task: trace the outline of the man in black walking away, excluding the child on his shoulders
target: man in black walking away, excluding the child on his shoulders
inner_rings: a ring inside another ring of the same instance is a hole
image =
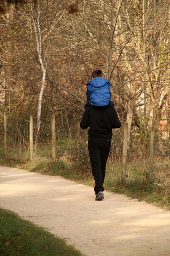
[[[90,155],[92,174],[95,180],[94,191],[96,201],[104,199],[103,183],[105,180],[106,162],[111,149],[112,128],[120,128],[121,122],[113,102],[107,106],[98,107],[87,102],[80,122],[80,127],[88,131],[88,151]]]

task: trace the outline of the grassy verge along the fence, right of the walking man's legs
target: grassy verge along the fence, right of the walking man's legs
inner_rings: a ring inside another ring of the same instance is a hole
[[[127,163],[127,178],[122,183],[120,163],[108,163],[105,189],[170,210],[170,169],[163,169],[160,161],[155,162],[155,175],[150,184],[147,183],[147,164],[145,161]]]

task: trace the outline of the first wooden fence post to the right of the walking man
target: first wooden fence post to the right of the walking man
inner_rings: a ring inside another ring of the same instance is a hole
[[[127,131],[128,123],[124,123],[123,130],[123,152],[122,152],[122,182],[126,180],[126,161],[127,161]]]

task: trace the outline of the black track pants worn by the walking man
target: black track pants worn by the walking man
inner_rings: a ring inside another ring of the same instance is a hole
[[[88,139],[88,152],[90,155],[92,174],[95,180],[94,191],[104,191],[106,162],[111,149],[111,138],[90,137]]]

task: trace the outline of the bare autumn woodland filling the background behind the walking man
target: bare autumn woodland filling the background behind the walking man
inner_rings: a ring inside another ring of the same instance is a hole
[[[76,174],[87,175],[87,132],[80,131],[77,124],[86,102],[85,83],[91,80],[94,68],[101,68],[112,84],[112,101],[122,122],[122,128],[113,131],[108,186],[116,190],[115,182],[120,184],[123,126],[128,122],[126,188],[135,187],[136,196],[152,191],[157,195],[155,201],[159,196],[168,205],[170,1],[0,3],[1,158],[6,112],[6,157],[28,163],[32,114],[34,158],[40,164],[41,155],[49,169],[51,114],[55,113],[57,159],[69,166],[75,164]],[[152,189],[147,184],[151,128],[155,160]],[[42,163],[41,171],[45,169]]]

